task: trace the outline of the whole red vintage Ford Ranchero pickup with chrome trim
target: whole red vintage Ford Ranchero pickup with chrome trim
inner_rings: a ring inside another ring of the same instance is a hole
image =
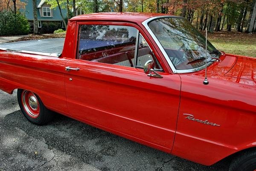
[[[256,171],[255,58],[220,52],[167,14],[80,15],[61,54],[63,40],[51,41],[0,45],[0,89],[17,89],[30,122],[55,111],[203,165],[232,157],[230,171]]]

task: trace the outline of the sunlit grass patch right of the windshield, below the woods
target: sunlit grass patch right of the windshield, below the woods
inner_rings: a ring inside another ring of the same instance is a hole
[[[256,34],[223,31],[210,33],[208,40],[226,53],[256,57]]]

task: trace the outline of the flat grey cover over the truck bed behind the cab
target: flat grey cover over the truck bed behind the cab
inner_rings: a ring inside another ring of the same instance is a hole
[[[0,43],[0,49],[59,57],[64,46],[64,40],[64,38],[49,38],[32,41],[19,41],[13,43]]]

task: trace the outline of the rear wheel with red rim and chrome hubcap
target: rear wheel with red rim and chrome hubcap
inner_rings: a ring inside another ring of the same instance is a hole
[[[36,125],[44,125],[52,119],[52,113],[35,93],[19,89],[17,98],[20,110],[29,122]]]

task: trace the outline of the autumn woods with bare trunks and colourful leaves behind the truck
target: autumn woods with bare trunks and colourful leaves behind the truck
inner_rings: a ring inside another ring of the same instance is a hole
[[[81,9],[84,14],[156,12],[186,17],[201,31],[207,28],[209,32],[223,29],[256,32],[256,0],[47,0],[47,3],[52,8],[66,9],[67,16],[62,16],[66,22],[76,15],[76,9]],[[0,12],[11,10],[16,14],[16,9],[25,5],[20,0],[0,0]]]

